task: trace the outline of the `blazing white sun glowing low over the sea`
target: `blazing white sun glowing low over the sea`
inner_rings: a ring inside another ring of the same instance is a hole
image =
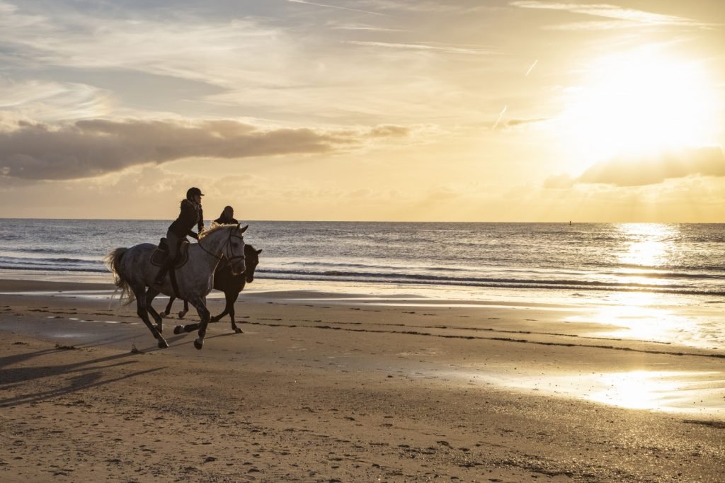
[[[571,91],[567,137],[588,157],[663,152],[711,141],[716,95],[703,66],[653,49],[603,57]]]

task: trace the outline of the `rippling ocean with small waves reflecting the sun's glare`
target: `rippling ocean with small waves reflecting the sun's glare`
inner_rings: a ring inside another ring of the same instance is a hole
[[[0,273],[108,273],[170,220],[0,219]],[[250,221],[257,278],[725,295],[725,224]],[[109,274],[109,281],[111,280]]]

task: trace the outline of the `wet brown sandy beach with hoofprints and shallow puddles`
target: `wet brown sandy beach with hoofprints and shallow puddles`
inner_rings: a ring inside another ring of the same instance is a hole
[[[173,318],[158,350],[107,284],[0,281],[0,480],[725,474],[721,351],[613,337],[581,304],[254,284],[244,334],[211,324],[197,351]]]

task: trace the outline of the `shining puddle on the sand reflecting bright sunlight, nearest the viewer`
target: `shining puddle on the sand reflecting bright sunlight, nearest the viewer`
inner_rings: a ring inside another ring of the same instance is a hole
[[[468,373],[465,376],[481,384],[620,408],[725,418],[725,373],[719,371],[627,371],[558,376]]]

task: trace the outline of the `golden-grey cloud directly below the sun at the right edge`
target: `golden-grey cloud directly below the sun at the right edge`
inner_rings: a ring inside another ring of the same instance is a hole
[[[719,146],[706,146],[661,152],[646,157],[616,157],[597,162],[576,181],[643,186],[691,175],[725,176],[723,150]]]

